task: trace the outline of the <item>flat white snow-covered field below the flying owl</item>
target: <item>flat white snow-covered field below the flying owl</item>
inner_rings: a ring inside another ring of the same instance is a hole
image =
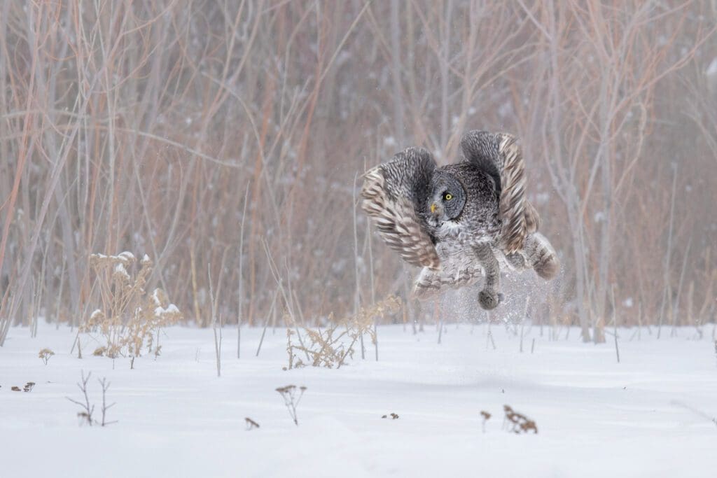
[[[379,327],[369,348],[340,369],[287,364],[285,333],[224,330],[217,378],[212,330],[170,328],[160,358],[70,355],[67,328],[13,329],[0,348],[0,476],[52,477],[714,477],[717,360],[693,330],[655,340],[622,330],[616,363],[602,345],[520,339],[493,325],[449,325],[412,335]],[[669,331],[668,331],[669,332]],[[564,333],[564,331],[563,331]],[[669,335],[669,334],[668,334]],[[535,349],[531,353],[531,343]],[[488,345],[488,346],[487,346]],[[48,365],[41,348],[55,354]],[[118,423],[78,426],[80,371],[111,381]],[[37,383],[29,393],[11,391]],[[291,421],[275,388],[308,387]],[[533,419],[538,434],[501,428],[503,405]],[[690,408],[692,408],[690,410]],[[481,430],[480,411],[493,414]],[[698,412],[702,412],[702,415]],[[395,413],[399,419],[381,419]],[[244,417],[260,429],[246,431]]]

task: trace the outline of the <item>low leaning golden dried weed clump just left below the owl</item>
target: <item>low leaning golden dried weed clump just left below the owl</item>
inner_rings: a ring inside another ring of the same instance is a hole
[[[346,358],[353,358],[354,346],[364,335],[369,335],[371,343],[376,343],[375,319],[382,319],[386,315],[398,312],[401,309],[401,300],[390,295],[386,299],[376,302],[369,307],[362,307],[356,315],[348,316],[342,320],[335,320],[329,316],[329,326],[326,328],[304,328],[303,343],[295,344],[292,341],[295,330],[291,317],[287,315],[285,321],[290,327],[286,330],[287,353],[289,365],[285,370],[300,368],[305,365],[313,367],[341,368]],[[308,363],[297,356],[297,352],[308,358]]]

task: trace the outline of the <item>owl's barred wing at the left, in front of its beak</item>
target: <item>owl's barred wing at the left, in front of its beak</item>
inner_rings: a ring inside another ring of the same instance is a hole
[[[374,219],[386,244],[415,266],[440,267],[420,213],[436,163],[427,150],[408,148],[364,174],[361,209]]]

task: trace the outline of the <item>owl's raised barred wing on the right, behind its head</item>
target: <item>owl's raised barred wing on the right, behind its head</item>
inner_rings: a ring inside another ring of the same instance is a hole
[[[460,140],[463,156],[495,181],[500,201],[501,248],[512,254],[523,248],[530,232],[538,229],[540,217],[526,199],[526,175],[523,150],[518,140],[507,133],[470,131]]]

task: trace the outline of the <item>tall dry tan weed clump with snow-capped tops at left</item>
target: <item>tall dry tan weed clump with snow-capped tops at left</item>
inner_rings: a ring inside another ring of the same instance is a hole
[[[155,345],[154,336],[160,328],[182,317],[163,290],[155,289],[151,293],[145,290],[152,272],[151,259],[145,254],[138,271],[130,274],[135,262],[131,252],[90,256],[101,303],[80,329],[85,333],[99,333],[105,339],[105,345],[95,350],[95,355],[128,356],[132,358],[132,365],[143,348],[159,355],[160,346]]]

